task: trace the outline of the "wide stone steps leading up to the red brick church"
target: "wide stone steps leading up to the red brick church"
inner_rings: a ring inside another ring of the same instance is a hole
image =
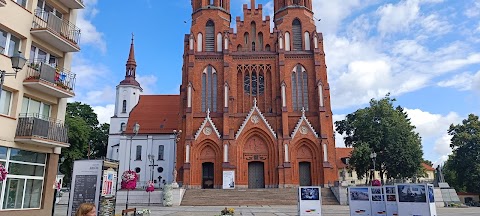
[[[322,188],[323,205],[338,205],[330,188]],[[296,205],[296,188],[272,189],[187,189],[182,206]]]

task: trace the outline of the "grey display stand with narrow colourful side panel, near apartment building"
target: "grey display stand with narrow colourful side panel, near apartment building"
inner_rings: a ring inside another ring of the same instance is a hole
[[[82,203],[93,203],[102,216],[115,215],[118,163],[78,160],[73,164],[67,216],[74,216]]]

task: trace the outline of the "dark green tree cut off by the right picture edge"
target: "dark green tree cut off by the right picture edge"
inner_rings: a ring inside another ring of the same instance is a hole
[[[480,122],[478,116],[468,115],[461,124],[450,125],[448,134],[452,136],[450,147],[453,155],[446,168],[454,175],[454,185],[459,190],[480,193]]]

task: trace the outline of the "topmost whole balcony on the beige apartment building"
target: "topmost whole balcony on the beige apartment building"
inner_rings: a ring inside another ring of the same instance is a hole
[[[30,33],[62,52],[80,51],[80,29],[53,13],[35,10]]]

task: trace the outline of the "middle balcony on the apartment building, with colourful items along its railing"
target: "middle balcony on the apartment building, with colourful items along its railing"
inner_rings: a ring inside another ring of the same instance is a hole
[[[57,98],[75,96],[75,74],[45,63],[43,59],[28,63],[23,85]]]

